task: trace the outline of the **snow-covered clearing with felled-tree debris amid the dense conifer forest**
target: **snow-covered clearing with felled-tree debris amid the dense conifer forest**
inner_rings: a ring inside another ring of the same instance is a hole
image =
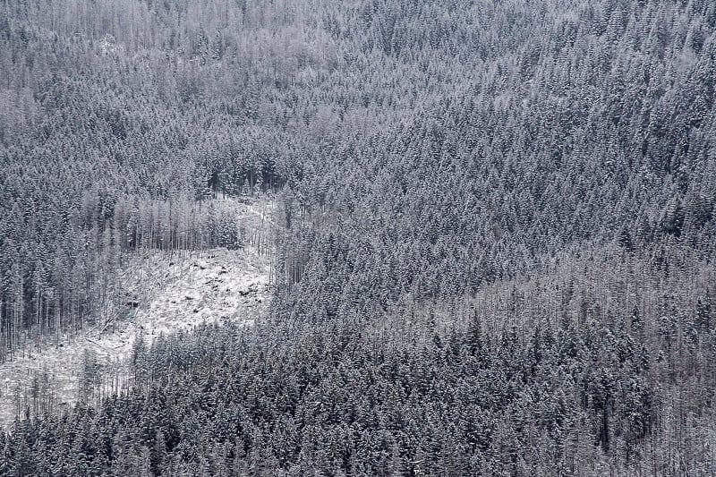
[[[116,370],[131,357],[139,336],[149,345],[160,334],[201,323],[251,325],[265,316],[273,276],[275,204],[218,202],[235,207],[246,219],[252,236],[243,250],[150,251],[125,257],[118,275],[120,296],[114,301],[124,318],[107,313],[110,318],[99,317],[79,333],[55,336],[0,364],[0,426],[7,429],[25,408],[64,412],[74,405],[88,353],[107,370]]]

